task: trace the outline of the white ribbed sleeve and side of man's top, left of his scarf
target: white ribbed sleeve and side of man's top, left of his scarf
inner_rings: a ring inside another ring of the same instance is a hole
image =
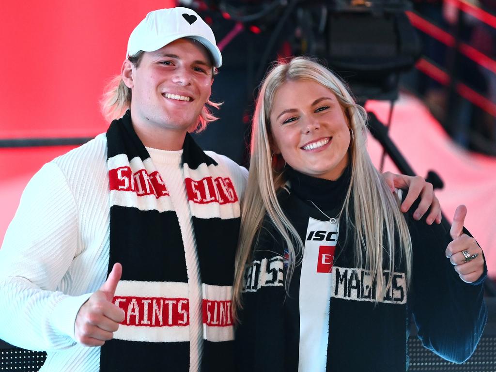
[[[99,135],[32,178],[0,249],[0,338],[45,350],[41,371],[98,371],[74,320],[109,262],[107,140]]]

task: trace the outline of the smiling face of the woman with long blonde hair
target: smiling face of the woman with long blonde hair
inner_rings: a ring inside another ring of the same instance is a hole
[[[287,81],[270,112],[272,144],[293,169],[337,180],[348,165],[351,134],[335,94],[312,80]]]

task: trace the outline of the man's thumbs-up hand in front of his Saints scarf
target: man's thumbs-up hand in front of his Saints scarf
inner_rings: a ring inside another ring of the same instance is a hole
[[[124,311],[112,302],[122,272],[122,265],[114,264],[107,280],[79,309],[74,324],[77,342],[85,346],[102,346],[114,337],[119,323],[124,320]]]

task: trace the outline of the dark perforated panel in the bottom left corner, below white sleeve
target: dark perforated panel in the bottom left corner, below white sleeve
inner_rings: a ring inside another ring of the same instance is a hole
[[[43,366],[45,359],[47,354],[42,351],[0,350],[0,372],[36,372]]]

